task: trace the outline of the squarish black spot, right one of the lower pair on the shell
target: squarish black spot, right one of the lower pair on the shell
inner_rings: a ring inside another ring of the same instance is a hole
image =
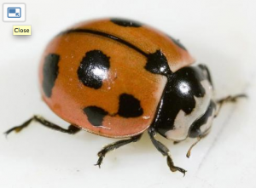
[[[143,108],[140,101],[131,94],[121,94],[118,114],[120,117],[140,117],[143,115]]]

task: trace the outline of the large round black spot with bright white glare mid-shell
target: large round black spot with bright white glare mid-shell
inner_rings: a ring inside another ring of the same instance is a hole
[[[101,50],[87,52],[81,60],[78,75],[84,86],[101,88],[102,81],[108,77],[109,57]]]

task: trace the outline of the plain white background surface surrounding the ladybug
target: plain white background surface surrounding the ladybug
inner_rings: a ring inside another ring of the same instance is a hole
[[[26,3],[24,24],[32,25],[32,36],[12,36],[17,24],[0,22],[0,133],[35,113],[67,126],[40,100],[40,55],[67,26],[106,16],[139,20],[179,38],[210,67],[217,97],[247,93],[249,99],[224,106],[212,133],[196,145],[190,159],[185,153],[194,140],[172,145],[159,138],[177,166],[188,170],[184,178],[169,171],[147,134],[111,152],[99,169],[93,166],[96,152],[113,139],[85,132],[61,134],[33,123],[8,140],[0,135],[0,187],[256,187],[254,0],[20,3]]]

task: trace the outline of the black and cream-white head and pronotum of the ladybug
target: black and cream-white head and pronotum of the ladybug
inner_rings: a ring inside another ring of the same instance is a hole
[[[194,138],[210,128],[214,109],[207,67],[183,67],[168,77],[154,128],[170,140]]]

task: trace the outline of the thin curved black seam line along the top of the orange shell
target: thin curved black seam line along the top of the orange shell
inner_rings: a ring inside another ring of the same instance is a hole
[[[148,57],[147,53],[143,52],[143,50],[141,50],[140,48],[137,48],[137,46],[133,45],[132,43],[129,43],[122,38],[115,37],[113,35],[110,35],[108,33],[102,32],[102,31],[94,31],[94,30],[89,30],[89,29],[71,29],[71,30],[61,32],[59,34],[59,36],[67,35],[70,33],[90,33],[90,34],[94,34],[94,35],[101,36],[101,37],[107,37],[109,39],[112,39],[114,41],[122,43],[122,44],[128,46],[129,48],[136,50],[138,53],[143,54],[143,56],[145,56],[145,57]]]

